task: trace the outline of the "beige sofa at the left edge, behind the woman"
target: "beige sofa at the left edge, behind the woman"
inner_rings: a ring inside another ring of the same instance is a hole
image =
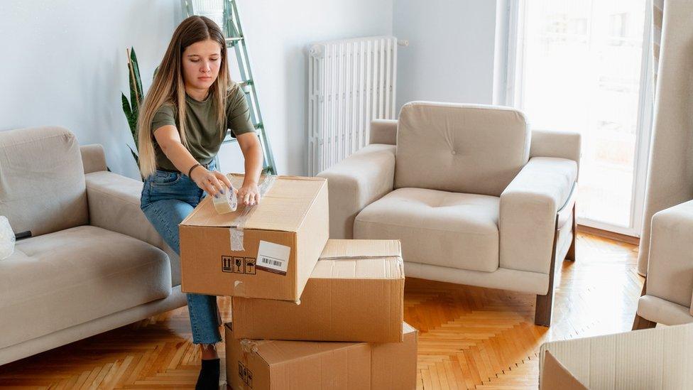
[[[186,304],[178,256],[141,212],[142,183],[58,127],[0,132],[0,364]]]

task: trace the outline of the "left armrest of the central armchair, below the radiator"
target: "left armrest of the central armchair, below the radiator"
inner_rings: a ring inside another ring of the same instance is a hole
[[[395,146],[366,146],[318,176],[327,178],[329,237],[352,238],[356,215],[393,190]]]

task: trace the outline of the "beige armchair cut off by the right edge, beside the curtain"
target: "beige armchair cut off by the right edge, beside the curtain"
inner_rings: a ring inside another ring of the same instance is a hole
[[[633,329],[693,323],[693,200],[655,213]]]

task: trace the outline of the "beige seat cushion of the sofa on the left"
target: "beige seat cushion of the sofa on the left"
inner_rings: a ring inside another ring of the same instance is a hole
[[[0,261],[0,348],[170,291],[168,256],[124,234],[80,226],[18,241]]]

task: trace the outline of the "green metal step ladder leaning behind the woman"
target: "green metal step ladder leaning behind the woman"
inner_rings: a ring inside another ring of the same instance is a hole
[[[241,80],[238,84],[246,94],[248,106],[251,114],[251,121],[257,130],[258,139],[262,146],[264,161],[263,175],[276,175],[277,168],[272,155],[272,148],[267,137],[267,131],[262,121],[260,114],[260,105],[258,104],[258,94],[253,81],[253,73],[251,72],[250,61],[248,59],[248,49],[246,48],[246,40],[244,39],[243,29],[241,28],[241,20],[239,18],[236,0],[182,0],[183,11],[187,16],[199,15],[207,16],[222,28],[224,37],[227,41],[227,50],[233,49],[236,54],[236,62],[239,66]],[[229,134],[224,138],[222,143],[235,143],[236,139]]]

